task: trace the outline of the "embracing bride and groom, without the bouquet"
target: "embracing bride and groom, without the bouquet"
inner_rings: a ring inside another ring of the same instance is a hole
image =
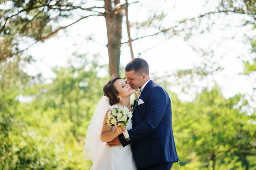
[[[103,88],[88,126],[84,156],[91,170],[170,170],[179,161],[172,130],[172,104],[166,90],[149,78],[148,63],[132,59],[125,67],[126,81],[111,79]],[[130,97],[136,91],[135,108]],[[126,127],[106,124],[115,106],[132,111]],[[128,130],[131,140],[123,133]]]

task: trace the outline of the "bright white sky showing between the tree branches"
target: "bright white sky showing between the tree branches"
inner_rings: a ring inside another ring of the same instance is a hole
[[[132,1],[129,1],[131,3]],[[131,23],[136,21],[143,21],[148,18],[148,15],[153,15],[153,11],[149,12],[148,9],[155,9],[160,7],[161,11],[170,11],[168,16],[163,21],[163,27],[168,28],[174,26],[175,21],[182,20],[184,18],[196,17],[199,14],[204,14],[207,11],[213,11],[215,3],[210,3],[208,6],[204,6],[202,0],[166,0],[163,1],[149,1],[140,0],[142,6],[139,3],[132,4],[129,7],[129,20]],[[214,2],[214,0],[209,1]],[[103,4],[99,2],[99,5]],[[88,3],[87,3],[88,4]],[[92,6],[93,2],[91,3]],[[224,17],[221,15],[221,19],[216,18],[215,25],[210,33],[197,34],[192,36],[189,41],[185,41],[183,37],[171,37],[169,39],[168,34],[156,37],[150,37],[143,40],[137,40],[132,42],[134,55],[138,56],[141,53],[141,57],[145,59],[150,67],[151,72],[157,72],[157,75],[163,75],[165,72],[192,68],[193,65],[199,65],[202,61],[202,57],[198,53],[192,50],[191,46],[195,46],[197,49],[203,48],[209,51],[214,51],[215,61],[220,63],[224,67],[224,71],[221,74],[214,74],[214,79],[219,85],[223,87],[223,94],[225,97],[233,96],[237,93],[253,93],[253,79],[249,77],[239,75],[239,72],[243,71],[243,65],[241,59],[252,59],[250,54],[250,44],[244,44],[244,34],[248,33],[251,28],[235,28],[240,23],[241,17]],[[76,15],[74,16],[76,17]],[[125,26],[125,17],[123,19],[123,36],[122,42],[128,40]],[[61,24],[65,25],[71,23],[70,20],[62,21]],[[206,26],[207,19],[202,21],[202,27]],[[225,26],[225,24],[231,24],[231,27]],[[201,28],[202,28],[201,27]],[[225,28],[222,30],[221,28]],[[249,31],[248,31],[249,30]],[[138,33],[136,29],[131,29],[132,38],[154,34],[156,29],[141,29]],[[255,32],[254,32],[255,33]],[[236,35],[231,38],[232,36]],[[95,42],[87,41],[86,38],[92,37]],[[166,40],[169,39],[169,40]],[[249,42],[249,41],[247,41]],[[46,78],[54,77],[51,72],[51,67],[66,66],[69,58],[72,58],[72,53],[77,52],[79,54],[87,53],[88,58],[91,58],[93,54],[99,53],[101,60],[99,64],[108,63],[108,49],[105,46],[107,44],[106,35],[106,23],[104,17],[90,17],[79,23],[67,28],[64,31],[59,31],[58,36],[46,40],[44,43],[38,43],[29,48],[28,53],[37,59],[35,65],[31,65],[27,68],[29,74],[36,74],[42,72]],[[154,47],[155,48],[152,48]],[[152,49],[151,49],[152,48]],[[148,50],[148,51],[147,51]],[[222,57],[222,59],[221,59]],[[237,58],[241,57],[241,59]],[[131,59],[130,49],[127,44],[122,45],[121,48],[121,65],[126,65]],[[100,73],[99,75],[105,75],[108,73]],[[210,81],[209,81],[210,82]],[[207,81],[197,82],[199,85],[206,86]],[[180,93],[180,88],[172,88],[176,93]],[[187,99],[188,96],[180,93],[181,99]]]

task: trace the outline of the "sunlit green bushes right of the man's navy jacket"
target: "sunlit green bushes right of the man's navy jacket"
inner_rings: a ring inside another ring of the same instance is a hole
[[[243,102],[241,102],[243,101]],[[191,103],[172,100],[177,169],[250,169],[256,166],[255,115],[242,95],[225,99],[218,86],[205,88]],[[184,166],[184,167],[183,167]]]

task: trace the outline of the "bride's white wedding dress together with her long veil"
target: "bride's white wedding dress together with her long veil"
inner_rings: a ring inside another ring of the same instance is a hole
[[[89,124],[83,155],[93,162],[90,170],[137,170],[131,151],[131,144],[126,147],[123,147],[121,144],[119,146],[109,147],[105,142],[100,141],[101,128],[99,129],[99,126],[102,127],[106,111],[112,108],[113,106],[109,105],[108,97],[103,96]],[[105,110],[104,115],[99,115],[98,111],[102,110]],[[100,122],[102,123],[99,124]],[[127,126],[127,130],[132,128],[131,119],[129,122],[130,124]],[[111,131],[115,129],[116,127],[113,126]]]

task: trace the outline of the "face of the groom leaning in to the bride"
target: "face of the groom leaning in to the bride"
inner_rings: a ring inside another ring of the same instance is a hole
[[[125,71],[126,83],[131,85],[132,89],[140,88],[143,85],[143,77],[132,71]]]

